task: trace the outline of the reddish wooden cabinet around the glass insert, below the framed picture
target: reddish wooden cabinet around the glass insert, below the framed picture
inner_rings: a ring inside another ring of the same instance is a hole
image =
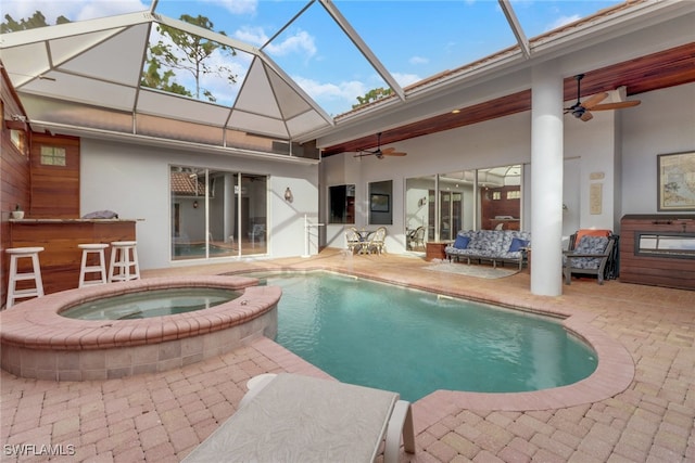
[[[620,281],[695,290],[695,258],[637,254],[642,233],[695,234],[695,216],[632,215],[620,221]]]

